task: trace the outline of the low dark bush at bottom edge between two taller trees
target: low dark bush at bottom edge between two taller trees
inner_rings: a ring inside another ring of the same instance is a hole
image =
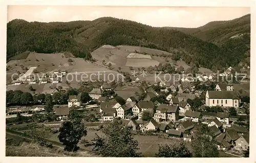
[[[192,157],[185,143],[165,144],[158,147],[156,157]]]

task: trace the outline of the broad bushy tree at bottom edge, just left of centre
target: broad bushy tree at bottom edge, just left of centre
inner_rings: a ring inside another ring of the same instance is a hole
[[[138,141],[134,140],[132,130],[123,127],[122,123],[114,120],[113,123],[102,129],[103,136],[96,134],[93,139],[93,151],[103,157],[139,157],[137,152]]]

